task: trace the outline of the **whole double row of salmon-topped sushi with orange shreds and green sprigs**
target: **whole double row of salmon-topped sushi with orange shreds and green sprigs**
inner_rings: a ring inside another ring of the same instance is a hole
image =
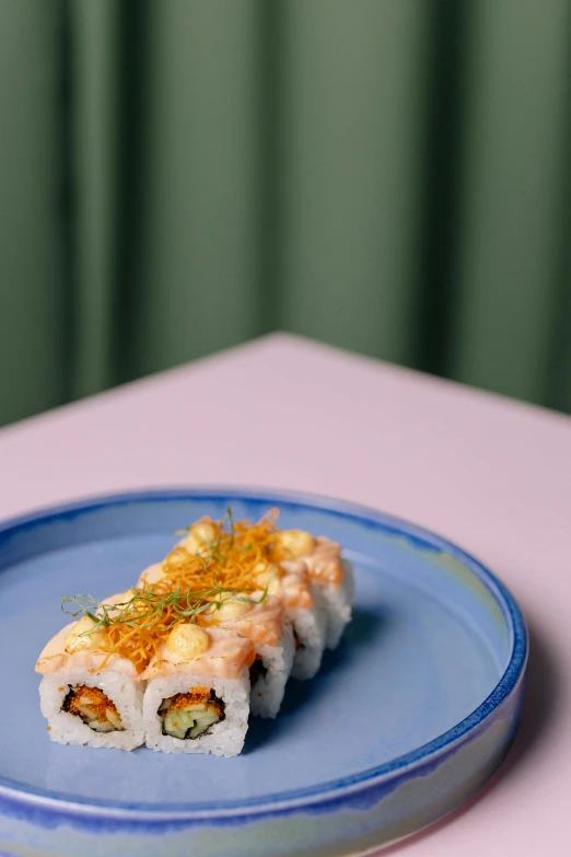
[[[313,678],[351,618],[340,545],[277,519],[205,517],[135,589],[63,599],[79,619],[36,664],[50,738],[237,755],[249,715],[276,717],[290,675]]]

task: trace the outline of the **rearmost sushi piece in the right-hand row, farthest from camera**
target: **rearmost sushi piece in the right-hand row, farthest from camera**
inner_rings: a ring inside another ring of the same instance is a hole
[[[351,564],[341,557],[337,542],[326,536],[314,537],[302,530],[281,531],[278,544],[305,564],[315,602],[327,616],[326,646],[336,649],[351,621],[354,591]]]

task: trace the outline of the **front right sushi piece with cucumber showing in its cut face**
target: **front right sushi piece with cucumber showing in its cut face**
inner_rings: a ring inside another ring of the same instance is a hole
[[[238,755],[248,728],[254,658],[252,641],[232,630],[176,625],[145,671],[147,746]]]

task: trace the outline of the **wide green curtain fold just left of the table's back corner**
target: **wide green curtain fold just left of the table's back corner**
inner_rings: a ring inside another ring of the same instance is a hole
[[[132,374],[259,333],[260,9],[148,4]]]

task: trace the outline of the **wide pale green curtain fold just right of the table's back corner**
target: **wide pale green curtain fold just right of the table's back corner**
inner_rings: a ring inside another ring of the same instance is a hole
[[[411,362],[429,3],[292,0],[282,20],[280,319]]]

